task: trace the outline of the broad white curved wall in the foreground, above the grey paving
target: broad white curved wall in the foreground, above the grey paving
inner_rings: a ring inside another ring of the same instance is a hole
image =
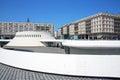
[[[101,77],[120,77],[120,55],[32,53],[0,48],[0,62],[34,71]]]

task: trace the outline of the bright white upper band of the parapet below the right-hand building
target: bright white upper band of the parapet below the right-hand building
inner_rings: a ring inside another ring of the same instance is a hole
[[[120,48],[120,40],[65,40],[63,46],[70,47],[114,47]]]

